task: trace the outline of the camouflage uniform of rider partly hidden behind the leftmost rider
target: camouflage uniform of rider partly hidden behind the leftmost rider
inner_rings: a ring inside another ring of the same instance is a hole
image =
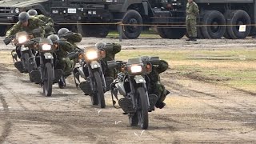
[[[51,34],[55,34],[56,31],[54,30],[54,20],[52,18],[46,17],[45,15],[36,15],[36,16],[32,16],[35,18],[38,18],[40,20],[42,20],[43,22],[45,22],[46,24],[46,37],[51,35]]]

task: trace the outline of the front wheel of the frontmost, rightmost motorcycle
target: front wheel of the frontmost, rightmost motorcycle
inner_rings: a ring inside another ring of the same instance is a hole
[[[149,126],[149,106],[148,106],[148,99],[146,99],[146,91],[144,88],[139,87],[137,89],[138,94],[138,106],[141,109],[138,110],[138,124],[141,126],[142,129],[147,129]]]

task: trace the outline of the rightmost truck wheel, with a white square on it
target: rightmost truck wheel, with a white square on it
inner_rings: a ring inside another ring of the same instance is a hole
[[[230,35],[230,38],[237,39],[237,38],[246,38],[248,34],[250,34],[251,24],[250,16],[244,10],[234,10],[229,17],[227,18],[227,33]],[[238,26],[231,26],[231,25],[238,25]],[[239,32],[239,26],[246,25],[245,32]]]

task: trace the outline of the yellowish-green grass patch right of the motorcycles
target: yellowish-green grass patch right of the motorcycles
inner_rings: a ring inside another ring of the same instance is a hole
[[[118,60],[159,56],[176,74],[256,93],[256,50],[122,50]]]

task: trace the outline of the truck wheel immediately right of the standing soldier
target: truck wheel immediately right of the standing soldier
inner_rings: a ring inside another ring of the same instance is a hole
[[[208,25],[201,28],[204,38],[222,38],[226,31],[225,17],[217,10],[207,11],[202,18],[202,25]]]

